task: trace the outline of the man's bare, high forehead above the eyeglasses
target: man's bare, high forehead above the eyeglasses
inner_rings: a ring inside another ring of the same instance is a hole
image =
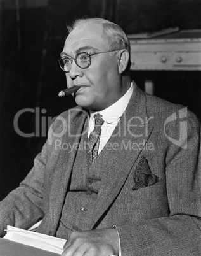
[[[107,41],[103,39],[103,25],[97,23],[82,24],[70,32],[68,35],[63,52],[76,53],[78,49],[84,50],[108,50]]]

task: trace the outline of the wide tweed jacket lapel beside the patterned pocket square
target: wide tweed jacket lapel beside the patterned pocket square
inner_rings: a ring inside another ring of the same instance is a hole
[[[116,135],[108,141],[111,145],[118,145],[119,150],[109,150],[107,153],[107,165],[103,167],[102,184],[93,213],[94,227],[118,196],[152,130],[153,125],[148,122],[146,112],[146,96],[134,85],[131,100],[113,132]]]

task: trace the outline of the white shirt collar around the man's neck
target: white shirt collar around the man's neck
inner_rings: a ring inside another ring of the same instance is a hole
[[[129,90],[127,90],[126,94],[124,94],[124,96],[122,96],[118,101],[113,103],[111,106],[105,108],[105,110],[101,110],[98,112],[89,111],[90,118],[93,118],[93,116],[96,113],[100,113],[100,115],[103,116],[103,120],[108,124],[115,122],[123,115],[124,111],[126,110],[127,104],[131,99],[132,92],[133,82],[131,82],[131,87],[129,88]]]

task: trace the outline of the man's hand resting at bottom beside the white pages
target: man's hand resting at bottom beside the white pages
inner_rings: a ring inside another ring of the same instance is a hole
[[[115,228],[74,231],[63,248],[62,256],[119,255],[119,236]]]

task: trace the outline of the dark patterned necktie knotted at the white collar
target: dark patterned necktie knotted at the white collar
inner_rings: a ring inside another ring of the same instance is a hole
[[[104,123],[103,116],[99,113],[94,115],[95,127],[88,138],[88,164],[89,166],[94,162],[94,159],[98,156],[98,146],[101,134],[101,126]]]

